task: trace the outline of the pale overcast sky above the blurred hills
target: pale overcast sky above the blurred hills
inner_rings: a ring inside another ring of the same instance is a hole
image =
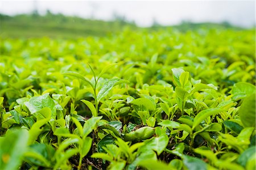
[[[237,26],[255,26],[255,1],[10,1],[0,0],[3,14],[52,13],[110,20],[113,14],[134,20],[139,26],[151,26],[154,20],[163,25],[192,22],[228,21]]]

